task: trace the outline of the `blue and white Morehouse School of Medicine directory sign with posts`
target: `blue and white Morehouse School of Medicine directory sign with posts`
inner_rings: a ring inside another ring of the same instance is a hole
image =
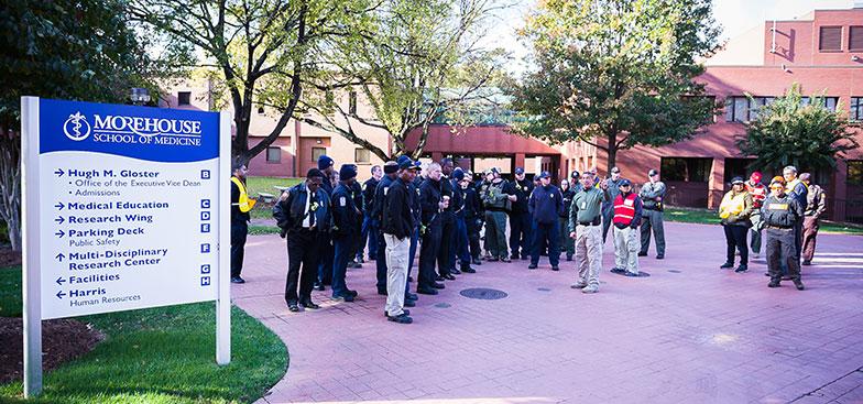
[[[22,98],[24,395],[43,319],[216,301],[230,362],[230,116]]]

